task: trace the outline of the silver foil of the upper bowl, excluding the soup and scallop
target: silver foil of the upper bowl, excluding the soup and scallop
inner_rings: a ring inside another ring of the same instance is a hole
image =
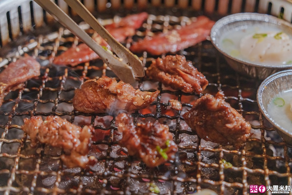
[[[282,19],[276,18],[267,14],[259,13],[236,13],[228,15],[218,20],[211,30],[211,40],[213,45],[220,51],[227,61],[227,63],[235,71],[248,75],[253,78],[265,79],[269,75],[279,72],[281,70],[292,69],[292,64],[285,65],[262,65],[259,63],[251,63],[240,58],[235,58],[225,53],[222,50],[221,37],[224,34],[234,31],[236,28],[246,28],[248,26],[265,26],[277,27],[285,32],[292,32],[292,25]]]

